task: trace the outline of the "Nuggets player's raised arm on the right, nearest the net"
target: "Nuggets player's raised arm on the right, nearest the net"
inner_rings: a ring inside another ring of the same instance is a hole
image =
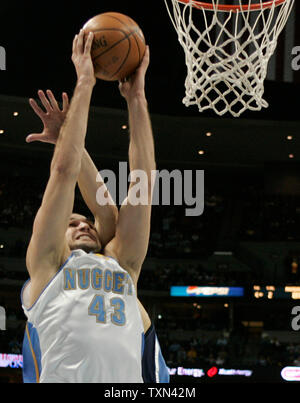
[[[143,172],[144,180],[139,183],[144,202],[135,205],[135,179],[129,187],[128,198],[123,203],[116,227],[116,236],[108,244],[107,252],[114,254],[120,265],[137,283],[140,270],[147,254],[152,206],[152,172],[156,170],[152,126],[145,96],[145,74],[149,65],[147,48],[141,66],[127,81],[120,83],[121,94],[127,101],[130,125],[129,163],[130,172]]]

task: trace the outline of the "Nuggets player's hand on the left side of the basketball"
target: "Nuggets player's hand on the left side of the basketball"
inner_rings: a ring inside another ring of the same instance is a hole
[[[85,82],[91,85],[96,84],[94,65],[91,56],[93,39],[93,32],[90,32],[86,36],[85,31],[81,29],[79,34],[74,38],[72,53],[72,61],[77,73],[77,82]]]

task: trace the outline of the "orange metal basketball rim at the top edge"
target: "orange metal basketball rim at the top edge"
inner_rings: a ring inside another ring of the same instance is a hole
[[[184,3],[188,4],[189,0],[177,0],[179,3]],[[206,3],[204,1],[196,1],[193,0],[193,7],[196,8],[202,8],[204,10],[217,10],[217,11],[233,11],[233,12],[238,12],[238,11],[257,11],[257,10],[264,10],[267,8],[280,6],[281,4],[285,3],[287,0],[271,0],[271,1],[264,1],[262,3],[255,3],[255,4],[245,4],[245,5],[225,5],[225,4],[218,4],[217,6],[215,4],[211,3]],[[275,4],[274,4],[275,3]]]

